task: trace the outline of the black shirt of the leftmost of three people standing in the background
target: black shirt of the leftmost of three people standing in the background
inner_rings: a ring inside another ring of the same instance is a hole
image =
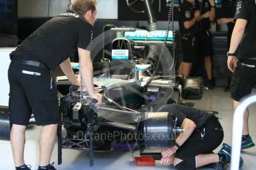
[[[193,4],[188,1],[184,1],[180,6],[180,33],[198,33],[199,25],[196,22],[192,27],[186,29],[184,27],[184,22],[191,21],[194,18],[195,8]]]

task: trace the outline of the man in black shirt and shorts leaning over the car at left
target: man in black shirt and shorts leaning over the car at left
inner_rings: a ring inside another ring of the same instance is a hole
[[[96,21],[96,1],[76,0],[72,10],[50,19],[27,37],[10,54],[10,141],[16,169],[30,169],[24,164],[25,129],[30,116],[42,126],[39,135],[39,170],[55,169],[50,157],[60,122],[56,85],[52,71],[60,65],[72,84],[79,85],[70,58],[78,51],[81,84],[99,106],[102,95],[94,92],[93,67],[89,45]]]

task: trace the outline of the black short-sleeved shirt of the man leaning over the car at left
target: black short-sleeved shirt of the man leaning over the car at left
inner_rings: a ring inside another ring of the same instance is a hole
[[[10,56],[42,61],[51,70],[73,55],[77,48],[88,49],[92,27],[82,16],[68,11],[56,16],[27,37]]]

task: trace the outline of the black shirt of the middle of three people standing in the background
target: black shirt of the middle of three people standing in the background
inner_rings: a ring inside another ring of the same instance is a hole
[[[200,14],[203,15],[211,11],[211,4],[209,0],[203,0],[202,2],[198,2],[200,6]],[[203,18],[200,21],[200,30],[209,30],[211,27],[211,21],[209,18]]]

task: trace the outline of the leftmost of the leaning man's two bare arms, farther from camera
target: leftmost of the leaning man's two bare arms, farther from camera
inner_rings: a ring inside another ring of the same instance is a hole
[[[73,73],[73,70],[71,68],[70,58],[63,61],[61,64],[59,64],[59,67],[62,69],[62,72],[64,72],[64,74],[67,76],[71,84],[79,86],[80,82],[79,82],[79,79],[76,78],[76,75]]]

